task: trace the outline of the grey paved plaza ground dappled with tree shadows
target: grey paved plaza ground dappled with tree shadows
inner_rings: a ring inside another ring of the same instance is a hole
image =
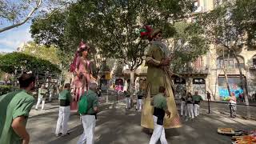
[[[47,109],[48,108],[48,109]],[[195,122],[183,122],[182,128],[166,130],[167,141],[171,144],[226,144],[230,137],[217,134],[218,127],[233,127],[239,130],[253,130],[255,121],[242,118],[228,118],[227,115],[211,112],[206,114],[205,104]],[[27,129],[31,144],[74,144],[82,134],[79,116],[71,114],[70,135],[56,138],[54,130],[58,118],[58,104],[46,104],[47,110],[31,110]],[[123,102],[102,104],[95,130],[95,144],[147,144],[151,134],[140,126],[141,114],[126,110]],[[160,142],[159,142],[160,143]]]

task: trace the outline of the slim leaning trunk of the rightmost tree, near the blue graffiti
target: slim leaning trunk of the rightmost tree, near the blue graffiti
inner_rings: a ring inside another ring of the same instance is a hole
[[[243,90],[243,96],[246,100],[246,114],[247,114],[247,118],[250,118],[250,106],[249,106],[249,99],[248,99],[248,93],[247,93],[247,89],[246,89],[246,83],[244,81],[244,78],[242,77],[242,69],[241,69],[241,66],[240,66],[240,62],[239,62],[239,59],[238,59],[238,55],[235,54],[234,52],[234,58],[237,60],[238,62],[238,70],[239,70],[239,75],[240,75],[240,81],[242,83],[242,90]]]

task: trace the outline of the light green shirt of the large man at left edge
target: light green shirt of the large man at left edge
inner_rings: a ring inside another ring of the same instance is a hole
[[[0,97],[0,143],[21,144],[22,139],[11,127],[13,119],[25,116],[26,121],[34,104],[34,98],[26,90],[18,90]],[[26,122],[24,122],[26,126]]]

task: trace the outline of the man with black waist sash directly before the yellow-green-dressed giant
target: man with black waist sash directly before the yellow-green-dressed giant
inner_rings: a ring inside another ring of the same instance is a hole
[[[166,88],[159,86],[159,93],[154,96],[153,101],[151,102],[151,105],[154,106],[154,131],[150,138],[150,144],[157,143],[159,138],[162,144],[167,144],[163,119],[165,114],[170,118],[170,111],[168,110],[166,95]]]

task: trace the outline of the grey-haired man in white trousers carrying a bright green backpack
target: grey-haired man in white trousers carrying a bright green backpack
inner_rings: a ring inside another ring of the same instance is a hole
[[[98,96],[95,93],[97,91],[97,84],[90,83],[89,89],[82,97],[87,97],[87,112],[81,114],[83,133],[78,140],[78,144],[93,144],[94,143],[94,130],[96,125],[96,114],[98,113]],[[80,98],[80,101],[82,99]],[[80,104],[79,104],[80,106]],[[78,108],[80,109],[80,108]]]

